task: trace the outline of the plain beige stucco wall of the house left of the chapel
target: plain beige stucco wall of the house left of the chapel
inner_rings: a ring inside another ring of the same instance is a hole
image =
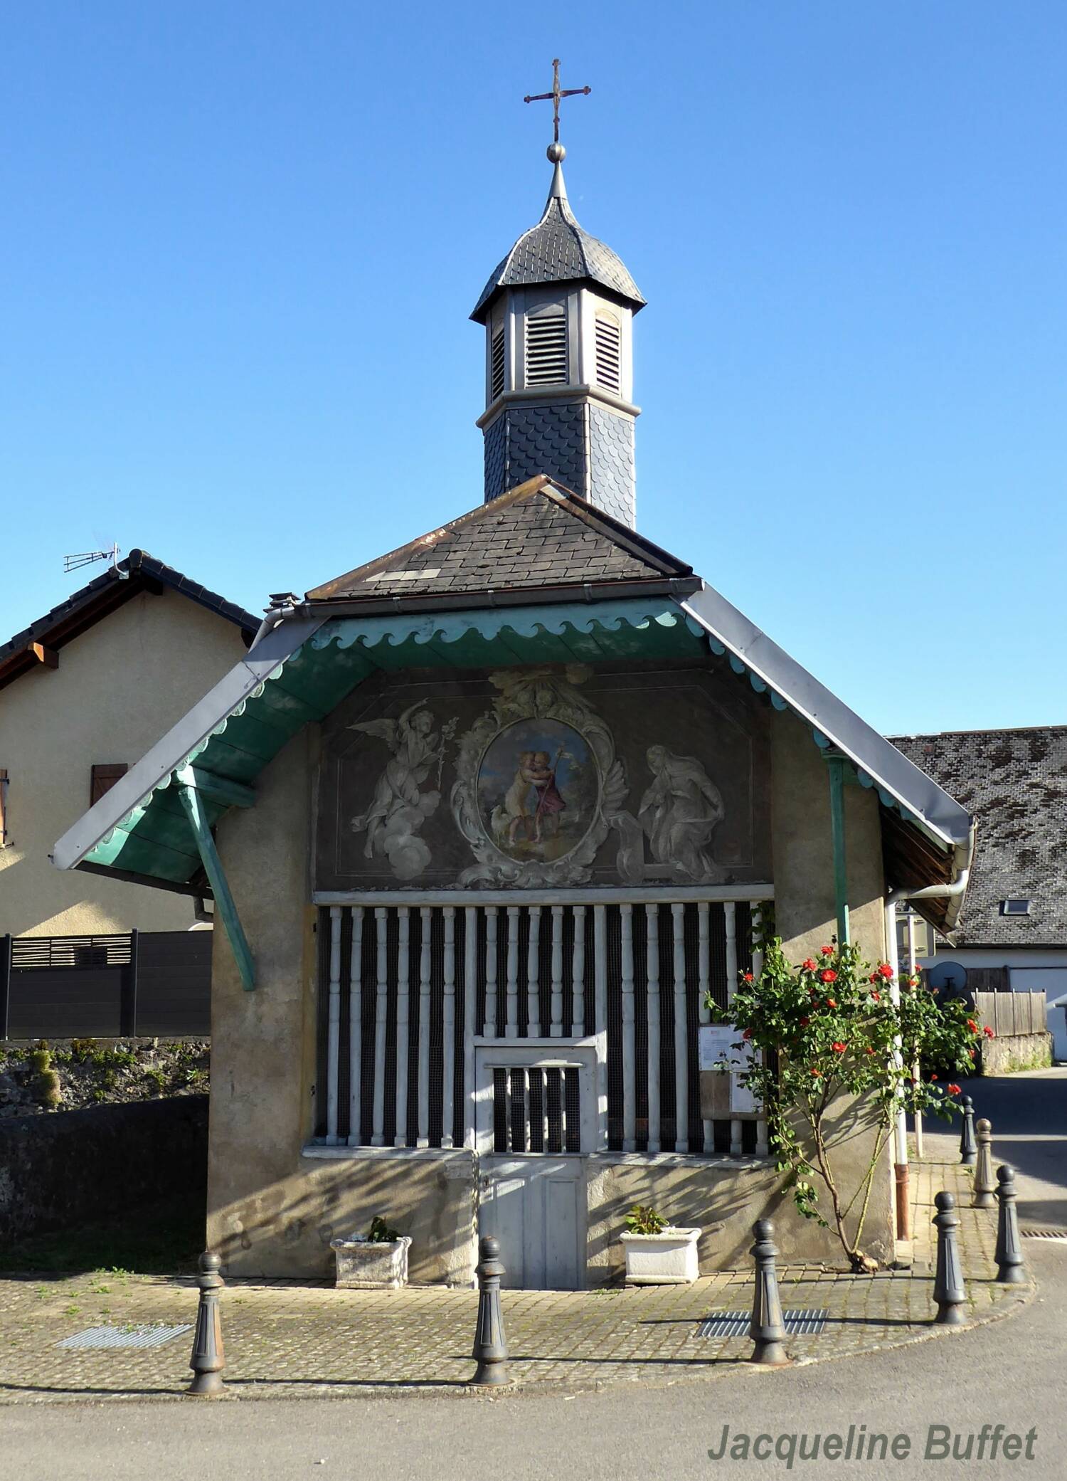
[[[59,650],[56,669],[0,690],[7,837],[0,935],[184,930],[192,900],[53,868],[52,847],[89,807],[92,767],[133,766],[243,656],[240,629],[186,597],[142,592]]]

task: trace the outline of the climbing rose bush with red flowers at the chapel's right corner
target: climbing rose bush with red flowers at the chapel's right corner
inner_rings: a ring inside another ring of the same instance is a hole
[[[752,1057],[743,1083],[762,1103],[768,1139],[798,1210],[833,1228],[852,1269],[873,1269],[861,1246],[870,1189],[898,1109],[952,1117],[959,1086],[916,1075],[919,1063],[969,1074],[981,1031],[959,1003],[937,1003],[919,977],[872,967],[858,948],[836,942],[790,966],[781,937],[762,942],[758,974],[740,974],[728,1009],[709,995],[718,1022],[733,1023]],[[898,1001],[895,998],[898,997]],[[986,1031],[990,1032],[989,1029]],[[855,1186],[842,1186],[832,1123],[848,1099],[875,1123],[870,1161]],[[830,1220],[820,1207],[821,1183]],[[855,1210],[855,1211],[854,1211]]]

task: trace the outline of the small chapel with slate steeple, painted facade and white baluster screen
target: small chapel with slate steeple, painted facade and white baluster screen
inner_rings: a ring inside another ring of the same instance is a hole
[[[234,1274],[324,1275],[380,1213],[417,1281],[469,1284],[494,1232],[512,1284],[598,1284],[650,1192],[704,1228],[704,1269],[761,1213],[790,1257],[827,1253],[744,1087],[701,1094],[707,995],[771,899],[795,961],[849,932],[883,960],[894,890],[952,929],[971,819],[633,529],[642,304],[556,164],[474,312],[479,507],[281,601],[55,846],[145,884],[209,871],[209,1241]],[[870,1129],[842,1134],[866,1167]],[[882,1149],[883,1259],[891,1198]]]

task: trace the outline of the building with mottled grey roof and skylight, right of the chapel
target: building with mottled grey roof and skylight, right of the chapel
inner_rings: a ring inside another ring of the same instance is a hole
[[[1057,1059],[1067,1059],[1067,726],[949,730],[892,743],[974,815],[971,883],[952,942],[968,986],[1033,991],[1049,1004]],[[934,957],[922,957],[932,966]]]

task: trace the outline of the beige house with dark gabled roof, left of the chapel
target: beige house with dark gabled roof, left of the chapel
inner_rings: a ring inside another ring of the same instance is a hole
[[[195,902],[52,868],[56,837],[252,641],[250,612],[130,551],[0,646],[0,936],[182,930]]]

